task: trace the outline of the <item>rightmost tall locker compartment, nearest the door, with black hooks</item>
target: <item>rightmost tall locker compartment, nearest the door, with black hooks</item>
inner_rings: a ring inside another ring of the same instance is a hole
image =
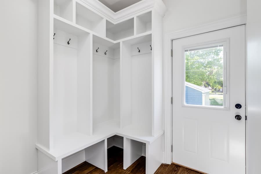
[[[145,136],[152,135],[151,40],[145,35],[122,46],[122,127]]]

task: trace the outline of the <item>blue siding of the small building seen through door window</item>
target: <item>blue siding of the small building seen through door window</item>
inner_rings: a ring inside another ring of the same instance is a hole
[[[186,86],[186,104],[202,105],[202,92]]]

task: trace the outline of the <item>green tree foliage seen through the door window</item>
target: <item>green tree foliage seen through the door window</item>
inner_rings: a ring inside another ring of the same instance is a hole
[[[185,52],[186,81],[213,90],[223,88],[223,48]]]

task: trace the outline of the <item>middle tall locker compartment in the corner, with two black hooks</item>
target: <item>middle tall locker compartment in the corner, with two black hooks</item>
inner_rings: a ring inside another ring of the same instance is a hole
[[[93,133],[120,126],[119,43],[93,35]]]

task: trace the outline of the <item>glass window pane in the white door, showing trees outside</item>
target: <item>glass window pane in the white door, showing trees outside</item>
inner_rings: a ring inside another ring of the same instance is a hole
[[[185,104],[223,107],[223,45],[185,50]]]

